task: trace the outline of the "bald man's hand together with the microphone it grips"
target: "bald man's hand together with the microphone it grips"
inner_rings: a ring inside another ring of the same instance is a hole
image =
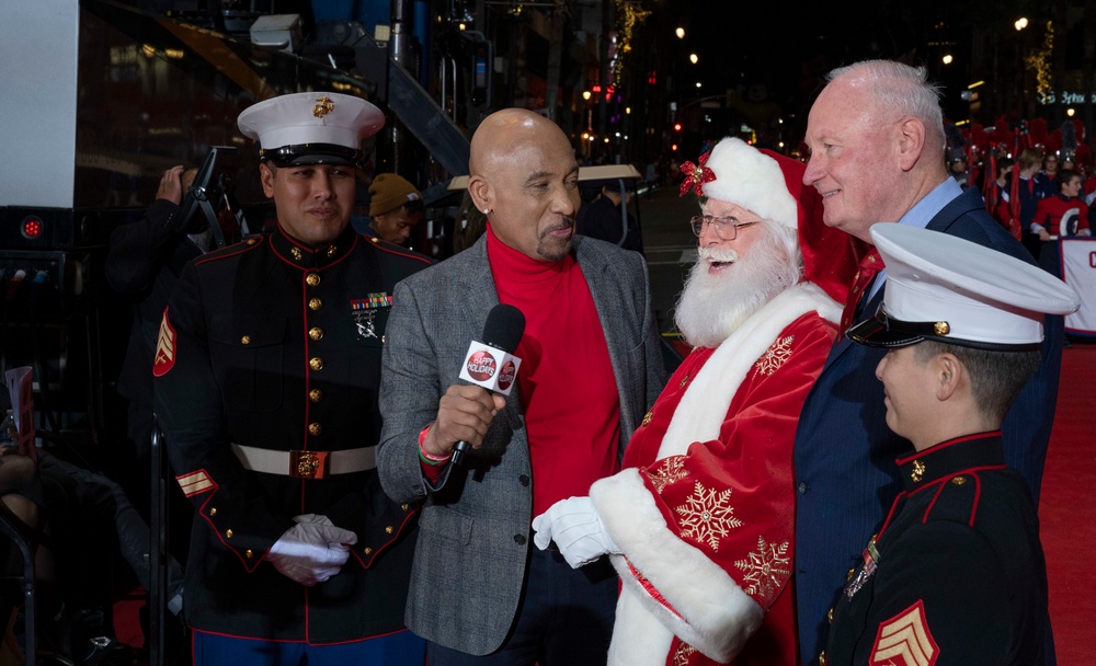
[[[424,451],[444,456],[452,450],[452,462],[461,464],[468,449],[479,448],[517,380],[522,359],[511,352],[524,333],[521,310],[506,305],[491,309],[483,342],[472,341],[460,368],[460,379],[468,383],[452,386],[442,397],[437,418],[423,441]]]

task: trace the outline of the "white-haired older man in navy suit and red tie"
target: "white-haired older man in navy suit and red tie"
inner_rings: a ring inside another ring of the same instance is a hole
[[[803,182],[822,195],[823,220],[865,242],[875,222],[923,227],[1032,263],[989,213],[977,188],[948,177],[938,91],[925,70],[872,60],[834,70],[811,108]],[[861,263],[846,305],[875,312],[886,271]],[[874,276],[874,279],[872,279]],[[1048,317],[1042,361],[1005,417],[1005,461],[1038,500],[1058,395],[1062,320]],[[910,444],[892,433],[875,368],[886,349],[842,340],[807,398],[796,435],[796,599],[800,647],[820,662],[827,609],[901,490],[893,460]],[[868,556],[865,554],[865,556]],[[824,663],[824,662],[823,662]]]

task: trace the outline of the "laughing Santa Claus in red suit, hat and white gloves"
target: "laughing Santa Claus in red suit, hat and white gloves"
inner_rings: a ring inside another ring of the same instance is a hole
[[[612,556],[609,664],[791,666],[796,422],[860,248],[796,160],[726,138],[682,170],[699,256],[675,321],[694,349],[625,469],[538,516],[535,540],[572,566]]]

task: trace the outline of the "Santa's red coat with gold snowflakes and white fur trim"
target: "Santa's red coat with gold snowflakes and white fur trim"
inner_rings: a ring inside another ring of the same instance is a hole
[[[792,445],[840,317],[804,283],[694,351],[591,489],[624,553],[609,664],[796,663]]]

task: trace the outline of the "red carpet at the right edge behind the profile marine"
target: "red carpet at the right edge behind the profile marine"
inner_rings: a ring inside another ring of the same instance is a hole
[[[1096,663],[1096,344],[1062,356],[1062,383],[1039,500],[1058,663]]]

